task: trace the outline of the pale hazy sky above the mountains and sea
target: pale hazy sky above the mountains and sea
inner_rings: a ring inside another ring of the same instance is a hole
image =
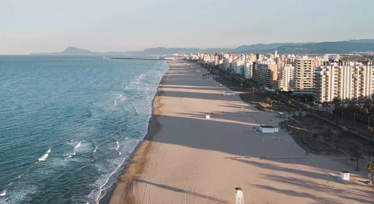
[[[374,38],[372,0],[0,0],[0,55]]]

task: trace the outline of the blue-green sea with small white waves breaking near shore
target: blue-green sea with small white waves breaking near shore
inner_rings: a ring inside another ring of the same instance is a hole
[[[0,56],[0,203],[103,203],[147,134],[168,69],[158,60]]]

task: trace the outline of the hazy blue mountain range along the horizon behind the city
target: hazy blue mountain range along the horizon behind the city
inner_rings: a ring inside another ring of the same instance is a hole
[[[242,45],[237,48],[166,48],[155,47],[147,48],[143,51],[128,52],[107,52],[95,53],[90,50],[76,47],[67,47],[61,53],[36,53],[32,55],[173,55],[173,54],[190,54],[190,53],[274,53],[278,54],[345,54],[356,52],[374,52],[374,39],[347,40],[340,42],[306,42],[306,43],[271,43],[271,44],[253,44]]]

